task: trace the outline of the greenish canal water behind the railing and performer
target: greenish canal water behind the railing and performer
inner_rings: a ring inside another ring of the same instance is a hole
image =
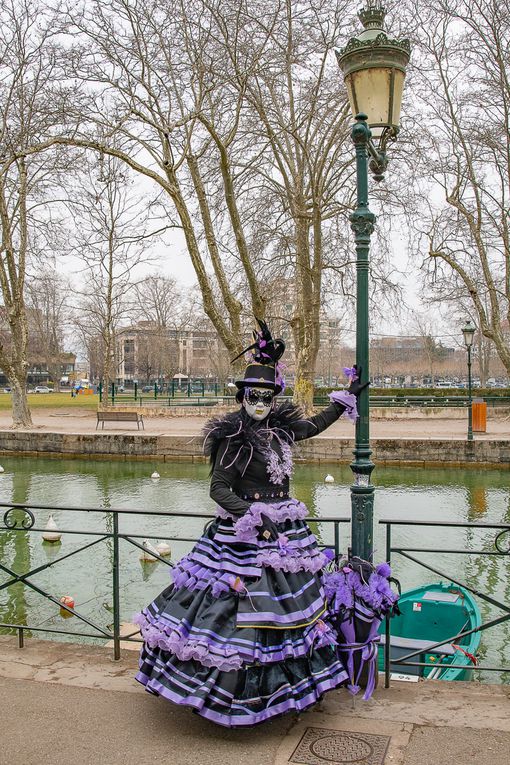
[[[126,508],[213,513],[209,499],[208,466],[191,463],[113,462],[100,460],[65,460],[3,458],[0,474],[0,501],[67,507]],[[151,479],[157,469],[160,479]],[[325,483],[327,473],[334,483]],[[314,533],[323,544],[333,543],[332,525],[321,518],[350,514],[351,471],[348,466],[297,465],[292,482],[293,496],[306,503]],[[510,475],[508,471],[449,468],[378,467],[373,474],[376,484],[375,556],[385,559],[384,529],[381,518],[407,520],[481,521],[510,524]],[[36,511],[36,527],[44,527],[48,511]],[[1,518],[1,514],[0,514]],[[54,513],[59,528],[111,531],[111,516],[104,512],[77,513],[59,510]],[[197,538],[204,520],[195,518],[158,518],[148,515],[120,516],[120,531],[127,534]],[[341,526],[340,545],[347,550],[349,525]],[[473,529],[432,529],[394,527],[393,543],[434,549],[492,549],[496,534]],[[43,543],[39,532],[3,530],[0,523],[0,563],[22,574],[67,555],[96,537],[66,533],[61,544]],[[507,540],[508,541],[508,540]],[[154,540],[153,543],[156,543]],[[191,542],[173,541],[171,560],[177,560],[191,547]],[[169,568],[163,563],[142,563],[140,551],[126,541],[120,542],[121,619],[147,604],[169,582]],[[502,557],[476,554],[423,553],[421,559],[493,598],[510,603],[510,555]],[[392,561],[402,589],[436,581],[438,576],[399,556]],[[112,625],[112,544],[99,542],[87,550],[58,562],[30,577],[30,581],[60,599],[73,597],[76,609],[103,627]],[[0,569],[0,586],[10,579]],[[484,621],[502,612],[479,600]],[[17,583],[0,590],[0,622],[30,624],[39,627],[68,629],[75,633],[89,628],[75,617],[66,618],[55,604],[27,585]],[[0,629],[0,632],[2,630]],[[4,630],[5,631],[5,630]],[[49,634],[38,633],[41,637]],[[55,639],[74,637],[54,636]],[[99,640],[99,642],[104,642]],[[484,633],[480,655],[491,666],[510,666],[510,623]],[[477,673],[482,682],[510,682],[510,673]]]

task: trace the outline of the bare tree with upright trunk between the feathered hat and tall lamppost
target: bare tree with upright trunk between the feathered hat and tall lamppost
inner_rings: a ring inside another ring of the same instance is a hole
[[[267,309],[269,280],[292,282],[295,395],[309,409],[323,273],[345,269],[350,261],[346,237],[338,238],[335,225],[339,216],[346,220],[351,173],[348,110],[331,56],[342,31],[341,9],[287,0],[268,3],[262,15],[243,3],[234,42],[229,4],[206,7],[221,35],[219,62],[230,79],[208,94],[199,119],[218,155],[254,312]],[[230,115],[225,103],[232,105]]]

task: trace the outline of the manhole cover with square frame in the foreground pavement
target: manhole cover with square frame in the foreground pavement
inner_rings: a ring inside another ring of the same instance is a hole
[[[307,728],[289,762],[302,765],[383,765],[389,736]]]

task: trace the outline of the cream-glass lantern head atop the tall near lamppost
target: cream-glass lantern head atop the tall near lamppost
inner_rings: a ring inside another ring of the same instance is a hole
[[[364,30],[352,37],[343,50],[336,50],[343,72],[353,117],[368,115],[374,138],[385,145],[395,138],[406,66],[411,54],[409,40],[392,40],[384,31],[386,11],[379,0],[368,0],[358,13]]]

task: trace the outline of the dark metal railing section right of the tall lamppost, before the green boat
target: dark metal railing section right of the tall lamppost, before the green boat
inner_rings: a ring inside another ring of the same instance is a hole
[[[422,560],[419,557],[416,557],[416,554],[421,553],[427,553],[427,554],[451,554],[451,555],[480,555],[480,556],[488,556],[488,557],[497,557],[501,559],[509,560],[510,558],[510,524],[508,523],[477,523],[477,522],[469,522],[469,521],[402,521],[398,519],[391,519],[391,520],[380,520],[380,524],[384,525],[386,527],[386,560],[388,563],[392,562],[394,555],[400,555],[403,558],[405,558],[407,561],[410,561],[412,563],[415,563],[422,568],[425,568],[427,571],[432,572],[433,574],[441,577],[443,580],[452,582],[453,584],[456,584],[460,587],[463,587],[468,592],[472,593],[473,595],[476,595],[481,600],[485,601],[486,603],[490,604],[491,606],[494,606],[495,608],[501,609],[504,614],[503,616],[499,616],[495,619],[490,619],[489,621],[486,621],[482,623],[480,626],[475,627],[474,629],[466,630],[463,629],[463,631],[459,632],[456,635],[448,636],[445,640],[438,641],[436,643],[431,643],[427,647],[426,653],[430,653],[431,650],[435,650],[439,646],[451,644],[451,643],[458,643],[458,641],[464,637],[467,637],[468,635],[471,635],[475,632],[483,632],[485,630],[490,629],[491,627],[495,627],[499,624],[503,624],[504,622],[510,620],[510,603],[501,603],[499,600],[496,600],[495,598],[491,597],[485,592],[482,592],[480,589],[476,587],[472,587],[470,584],[461,581],[459,578],[457,578],[455,575],[452,575],[451,572],[441,571],[440,569],[436,568],[435,566],[432,566],[427,561]],[[438,528],[438,529],[482,529],[486,531],[496,531],[496,535],[492,541],[492,548],[491,549],[481,549],[481,550],[473,550],[473,549],[450,549],[446,547],[408,547],[403,546],[401,544],[395,545],[392,541],[392,529],[395,526],[399,527],[408,527],[408,528],[416,528],[416,529],[422,529],[425,527],[431,527],[431,528]],[[505,537],[508,537],[508,539],[505,540]],[[409,653],[406,653],[404,656],[400,657],[394,657],[391,658],[391,619],[388,616],[385,620],[385,644],[384,644],[384,675],[385,675],[385,687],[389,688],[390,685],[390,674],[391,674],[391,665],[402,665],[403,667],[420,667],[423,668],[423,670],[426,667],[435,667],[437,668],[438,664],[437,662],[425,662],[425,661],[412,661],[416,656],[419,656],[420,654],[423,654],[423,648],[420,648],[418,650],[409,651]],[[466,669],[465,665],[455,665],[455,664],[445,664],[445,669]],[[485,671],[485,672],[510,672],[510,667],[491,667],[491,666],[481,666],[479,664],[476,665],[476,669],[478,671]]]

